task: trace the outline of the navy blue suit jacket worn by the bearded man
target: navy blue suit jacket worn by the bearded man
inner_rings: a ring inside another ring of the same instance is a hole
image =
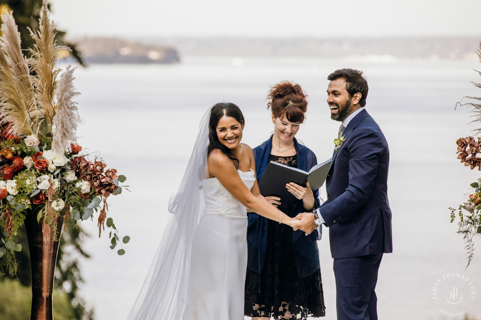
[[[326,179],[328,199],[319,208],[332,258],[392,252],[386,138],[366,110],[348,123],[344,137]]]

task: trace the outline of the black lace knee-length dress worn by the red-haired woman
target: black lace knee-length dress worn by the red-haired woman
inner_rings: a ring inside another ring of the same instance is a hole
[[[276,161],[297,168],[297,155],[280,157]],[[282,203],[282,200],[281,200]],[[292,206],[279,205],[288,215]],[[321,271],[310,276],[298,276],[292,228],[269,220],[266,260],[261,273],[247,268],[244,314],[248,317],[274,317],[274,319],[303,319],[326,315],[322,291]]]

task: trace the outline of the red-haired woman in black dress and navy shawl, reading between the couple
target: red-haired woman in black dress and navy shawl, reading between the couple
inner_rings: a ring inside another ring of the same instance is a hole
[[[253,149],[259,182],[270,161],[309,171],[316,155],[294,136],[304,122],[307,100],[301,86],[284,81],[271,87],[267,108],[272,111],[274,133]],[[320,206],[318,190],[290,183],[293,203],[279,197],[266,199],[291,217]],[[309,235],[285,224],[248,212],[248,263],[244,314],[257,318],[303,319],[325,316],[319,251],[321,229]]]

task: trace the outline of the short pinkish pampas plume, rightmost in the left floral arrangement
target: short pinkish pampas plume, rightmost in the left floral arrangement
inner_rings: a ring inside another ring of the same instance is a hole
[[[60,76],[55,96],[57,107],[53,117],[53,140],[52,150],[63,152],[70,143],[76,142],[75,134],[77,129],[77,103],[73,100],[79,93],[75,91],[73,85],[74,70],[69,65]]]

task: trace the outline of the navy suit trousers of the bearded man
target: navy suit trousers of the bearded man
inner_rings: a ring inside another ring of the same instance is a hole
[[[334,259],[337,320],[378,320],[376,283],[382,253]]]

